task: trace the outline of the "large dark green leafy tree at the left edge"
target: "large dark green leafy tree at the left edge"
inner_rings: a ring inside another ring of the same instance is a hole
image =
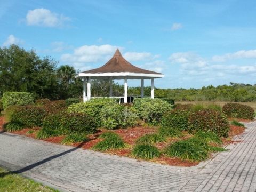
[[[33,93],[35,98],[57,99],[57,63],[14,44],[0,48],[0,97],[6,91],[23,91]]]

